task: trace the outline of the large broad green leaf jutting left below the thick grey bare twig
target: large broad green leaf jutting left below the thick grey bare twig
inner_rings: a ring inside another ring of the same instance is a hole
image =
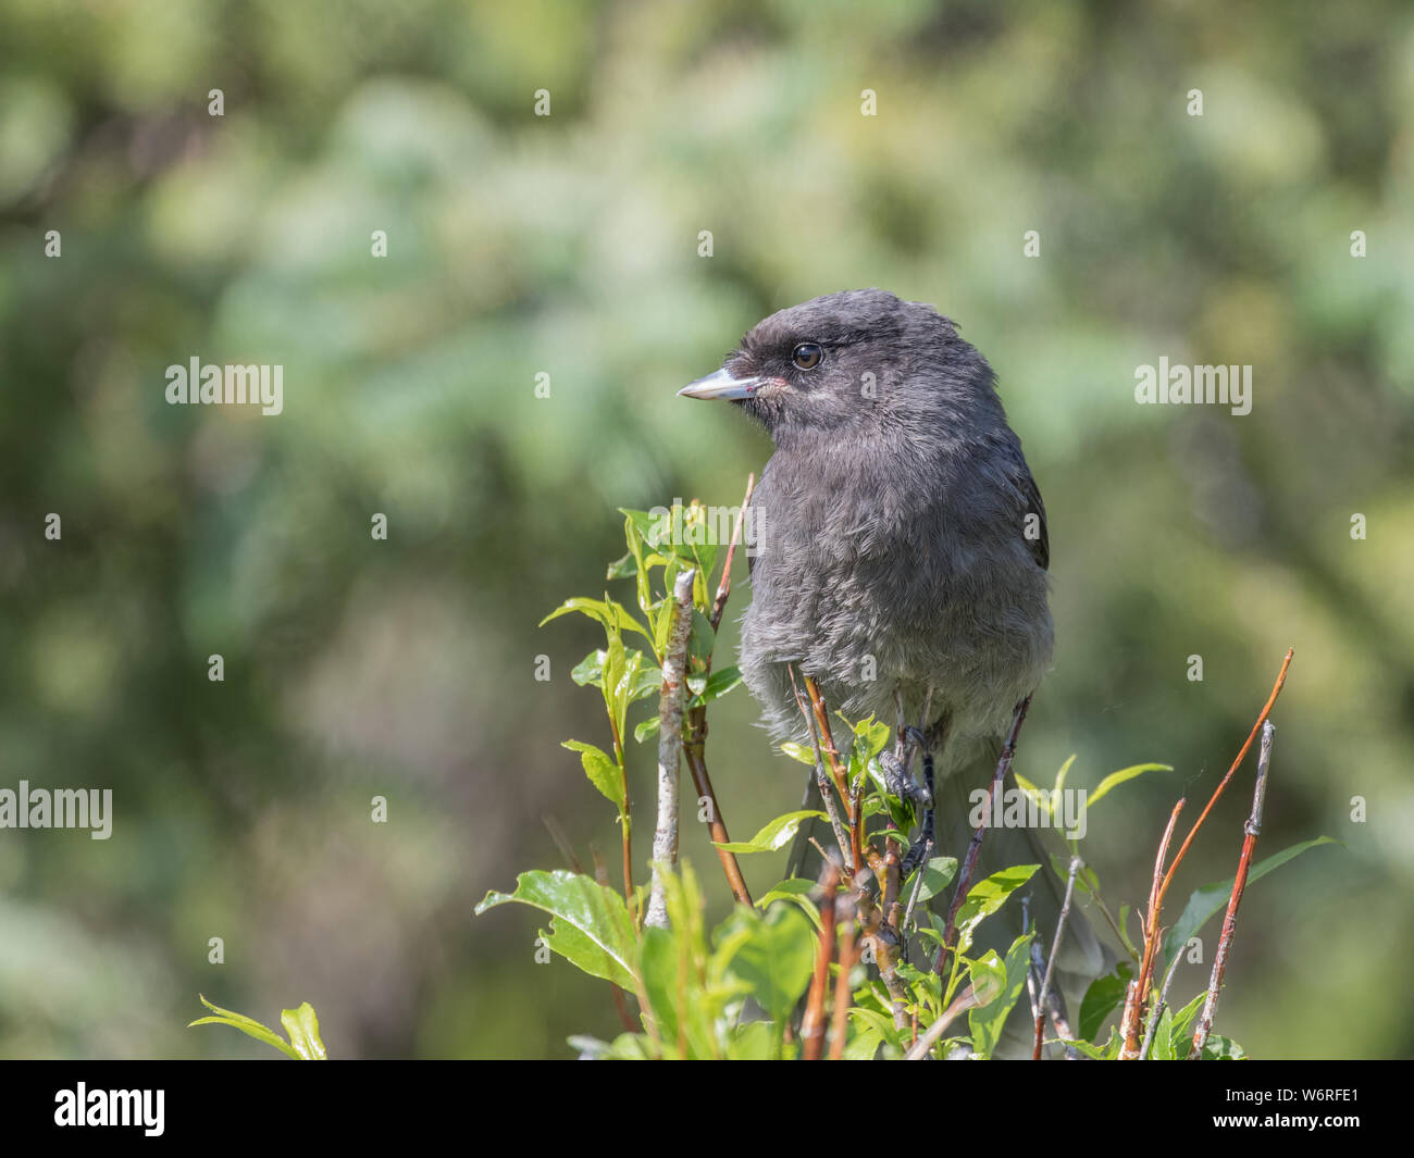
[[[513,894],[488,892],[477,915],[519,901],[550,913],[554,933],[551,950],[594,977],[635,990],[633,960],[638,940],[624,898],[591,877],[556,870],[522,872]]]

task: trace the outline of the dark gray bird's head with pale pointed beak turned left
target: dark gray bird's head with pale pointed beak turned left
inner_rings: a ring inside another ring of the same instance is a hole
[[[991,370],[930,305],[847,290],[781,310],[741,339],[715,373],[679,390],[725,399],[771,431],[861,433],[995,397]],[[976,394],[977,397],[970,397]]]

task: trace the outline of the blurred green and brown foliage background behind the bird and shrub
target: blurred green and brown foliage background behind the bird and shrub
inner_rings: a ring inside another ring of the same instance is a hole
[[[0,1055],[267,1053],[185,1029],[198,991],[308,1000],[338,1056],[612,1034],[602,984],[533,964],[534,913],[472,916],[561,864],[546,814],[617,844],[559,747],[605,742],[568,677],[594,628],[536,624],[602,592],[615,508],[732,505],[765,461],[674,390],[865,286],[991,359],[1046,499],[1058,650],[1018,766],[1175,768],[1092,813],[1111,903],[1294,646],[1260,851],[1343,844],[1249,891],[1219,1029],[1410,1053],[1407,4],[3,0],[0,786],[112,788],[116,820],[0,830]],[[194,355],[281,363],[284,413],[167,406]],[[1159,356],[1251,363],[1251,414],[1137,406]],[[708,742],[738,838],[799,799],[754,720],[737,693]],[[1174,915],[1230,875],[1249,788]]]

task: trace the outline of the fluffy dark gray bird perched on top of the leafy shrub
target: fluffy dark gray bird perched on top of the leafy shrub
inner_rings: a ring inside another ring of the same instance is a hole
[[[741,638],[766,724],[807,739],[789,666],[850,720],[892,724],[902,696],[936,758],[939,851],[960,855],[964,789],[987,786],[1053,642],[1045,508],[991,366],[930,305],[851,290],[772,314],[680,393],[735,403],[775,441]],[[1041,853],[1029,830],[983,848],[983,871]],[[1090,973],[1083,933],[1062,964]]]

